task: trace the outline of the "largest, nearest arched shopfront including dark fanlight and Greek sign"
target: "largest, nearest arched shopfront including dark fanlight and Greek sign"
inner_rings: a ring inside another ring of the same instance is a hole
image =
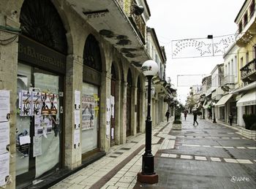
[[[20,28],[16,188],[64,166],[64,99],[59,94],[64,91],[67,55],[67,31],[51,1],[25,0]],[[30,99],[30,109],[22,104],[24,96]],[[23,144],[21,138],[28,136],[30,143]]]

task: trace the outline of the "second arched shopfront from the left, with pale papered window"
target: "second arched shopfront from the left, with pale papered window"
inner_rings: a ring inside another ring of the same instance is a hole
[[[82,87],[82,159],[99,152],[99,88],[101,85],[102,58],[99,42],[87,36],[83,49]]]

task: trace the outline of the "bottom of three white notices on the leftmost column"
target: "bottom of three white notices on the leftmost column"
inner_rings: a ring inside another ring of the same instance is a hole
[[[0,155],[0,186],[5,185],[9,177],[10,154]]]

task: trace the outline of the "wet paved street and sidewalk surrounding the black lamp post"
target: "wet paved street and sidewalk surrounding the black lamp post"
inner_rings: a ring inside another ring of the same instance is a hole
[[[145,146],[140,134],[52,188],[255,188],[255,140],[211,120],[193,126],[192,118],[183,118],[181,130],[172,129],[172,120],[153,128],[157,184],[137,181]]]

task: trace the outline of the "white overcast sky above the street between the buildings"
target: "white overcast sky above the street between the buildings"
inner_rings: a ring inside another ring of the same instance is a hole
[[[167,55],[166,76],[177,87],[177,75],[210,74],[214,67],[223,63],[222,56],[208,58],[172,59],[172,40],[204,38],[208,35],[235,34],[234,20],[244,0],[147,0],[151,18],[147,26],[154,28],[159,45],[165,46]],[[195,77],[195,76],[194,76]],[[193,78],[194,78],[193,77]],[[187,85],[192,77],[178,77]],[[190,78],[190,79],[189,79]],[[181,83],[179,83],[181,84]],[[189,87],[178,87],[178,99],[184,104]]]

